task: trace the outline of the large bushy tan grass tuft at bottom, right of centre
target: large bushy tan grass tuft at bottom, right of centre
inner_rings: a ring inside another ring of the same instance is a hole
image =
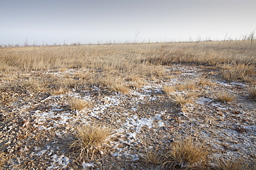
[[[202,168],[208,160],[209,152],[199,145],[192,137],[186,138],[171,145],[171,151],[167,152],[163,166],[170,168]]]

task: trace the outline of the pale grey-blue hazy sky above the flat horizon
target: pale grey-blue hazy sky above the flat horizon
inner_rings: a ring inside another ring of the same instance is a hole
[[[0,45],[241,39],[256,0],[0,0]]]

